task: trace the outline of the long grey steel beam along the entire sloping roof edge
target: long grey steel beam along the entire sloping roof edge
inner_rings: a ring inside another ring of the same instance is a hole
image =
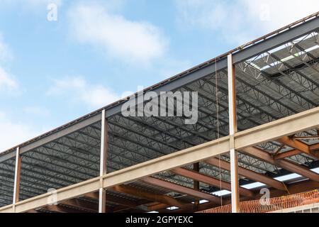
[[[318,29],[319,17],[315,17],[318,15],[312,15],[307,20],[297,21],[293,23],[293,25],[289,25],[286,28],[281,28],[279,31],[275,31],[274,33],[270,33],[268,35],[264,35],[262,38],[258,40],[254,40],[251,43],[245,45],[245,48],[236,48],[235,50],[231,50],[228,53],[233,53],[233,63],[237,64],[238,62],[243,62],[251,57],[257,56],[276,48],[284,43],[289,43],[291,40],[294,40],[302,35],[306,35],[307,33],[311,33]],[[185,72],[181,72],[177,74],[175,77],[169,78],[164,82],[160,82],[155,84],[154,86],[148,88],[147,90],[152,90],[155,92],[166,92],[172,91],[179,87],[185,86],[186,84],[190,84],[191,82],[195,82],[198,79],[208,76],[211,72],[216,70],[225,69],[227,67],[226,56],[228,53],[224,55],[220,55],[216,57],[216,59],[208,60],[201,65],[191,68]],[[114,104],[106,106],[106,116],[113,116],[115,114],[121,113],[121,105],[125,103],[125,100],[117,101]],[[32,150],[40,145],[50,142],[51,140],[55,140],[60,138],[63,135],[67,135],[68,133],[72,133],[74,131],[79,130],[80,128],[84,128],[85,126],[89,126],[91,123],[95,123],[99,121],[99,112],[94,111],[91,114],[83,116],[82,118],[77,119],[76,121],[72,121],[71,123],[67,123],[65,126],[61,126],[49,133],[45,133],[44,135],[40,135],[38,138],[28,141],[27,143],[23,143],[20,145],[21,153],[26,150]],[[97,115],[96,115],[97,114]],[[14,153],[10,152],[6,153],[6,155],[1,155],[0,162],[6,160],[10,157],[13,157]]]

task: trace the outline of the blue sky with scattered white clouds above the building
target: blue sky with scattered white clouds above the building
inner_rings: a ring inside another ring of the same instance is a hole
[[[57,21],[47,20],[50,3]],[[0,0],[0,150],[318,9],[317,0]]]

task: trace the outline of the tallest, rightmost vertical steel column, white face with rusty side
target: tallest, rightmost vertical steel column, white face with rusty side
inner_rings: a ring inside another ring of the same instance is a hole
[[[232,212],[240,212],[239,182],[238,182],[238,155],[235,150],[234,135],[237,132],[236,122],[236,89],[235,65],[233,55],[228,55],[228,106],[229,106],[229,135],[230,135],[230,180],[232,191]]]

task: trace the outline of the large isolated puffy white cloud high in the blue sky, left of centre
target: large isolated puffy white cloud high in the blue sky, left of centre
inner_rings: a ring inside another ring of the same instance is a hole
[[[108,57],[127,63],[144,63],[161,57],[167,39],[159,28],[144,21],[129,21],[102,4],[77,4],[69,11],[72,37],[93,45]]]

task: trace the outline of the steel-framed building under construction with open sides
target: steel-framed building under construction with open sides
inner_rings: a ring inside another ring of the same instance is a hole
[[[318,212],[318,16],[143,91],[197,92],[194,124],[122,99],[1,153],[0,212]]]

